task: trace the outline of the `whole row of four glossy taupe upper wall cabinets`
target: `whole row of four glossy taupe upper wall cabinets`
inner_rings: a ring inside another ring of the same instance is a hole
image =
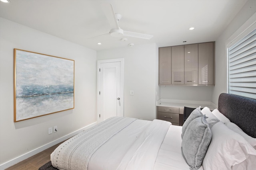
[[[215,42],[160,47],[158,84],[213,86]]]

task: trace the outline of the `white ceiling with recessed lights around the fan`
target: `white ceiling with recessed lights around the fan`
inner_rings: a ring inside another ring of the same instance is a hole
[[[0,17],[96,51],[156,43],[158,47],[216,41],[247,0],[10,0]],[[122,14],[126,31],[154,35],[150,40],[96,35],[111,29],[100,3]],[[195,27],[194,30],[189,30]],[[183,43],[183,41],[187,41]],[[97,45],[101,42],[102,45]]]

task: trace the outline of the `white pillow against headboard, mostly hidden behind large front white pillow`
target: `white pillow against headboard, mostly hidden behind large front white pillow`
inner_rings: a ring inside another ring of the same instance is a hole
[[[252,147],[254,147],[254,149],[256,149],[256,138],[250,137],[249,135],[244,133],[244,131],[240,127],[238,127],[238,125],[236,125],[235,123],[227,122],[227,123],[225,123],[225,125],[232,131],[234,131],[234,132],[238,133],[239,135],[241,135],[242,137],[244,137],[244,139],[248,143],[250,143],[250,145],[252,145]]]

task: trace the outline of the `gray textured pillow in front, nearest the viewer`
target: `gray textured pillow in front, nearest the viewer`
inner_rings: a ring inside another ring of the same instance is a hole
[[[200,168],[212,139],[212,132],[206,118],[203,115],[192,120],[182,139],[182,152],[190,170]]]

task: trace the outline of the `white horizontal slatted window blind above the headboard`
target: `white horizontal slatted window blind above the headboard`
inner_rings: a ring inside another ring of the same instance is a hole
[[[228,93],[256,99],[256,29],[228,48]]]

